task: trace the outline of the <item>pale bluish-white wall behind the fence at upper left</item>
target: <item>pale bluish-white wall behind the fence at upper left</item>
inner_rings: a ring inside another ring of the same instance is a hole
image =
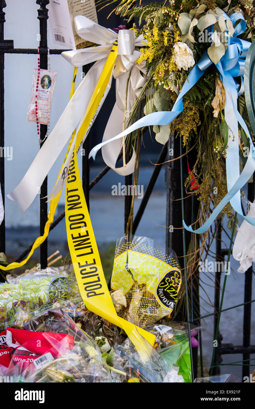
[[[5,11],[5,39],[14,40],[14,48],[37,48],[39,33],[36,0],[8,0]],[[48,22],[48,46],[53,44]],[[73,67],[61,55],[50,56],[52,71],[57,71],[52,101],[50,130],[53,129],[70,99]],[[27,122],[33,69],[37,67],[37,54],[5,54],[5,146],[13,147],[13,160],[5,158],[5,195],[14,189],[25,175],[38,152],[36,124]],[[79,68],[77,85],[82,69]],[[2,74],[2,73],[1,73]],[[71,136],[71,135],[70,135]],[[51,191],[65,157],[67,146],[56,160],[48,175],[48,191]],[[81,162],[81,156],[79,162]],[[64,193],[64,192],[63,192]],[[61,196],[61,203],[64,196]],[[6,227],[38,225],[39,195],[32,205],[20,214],[18,203],[5,197]]]

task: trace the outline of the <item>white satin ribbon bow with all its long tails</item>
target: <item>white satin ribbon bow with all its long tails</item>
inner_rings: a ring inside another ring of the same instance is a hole
[[[86,76],[81,81],[79,87],[74,92],[73,97],[70,99],[63,114],[59,118],[59,121],[56,123],[56,126],[36,155],[24,178],[21,180],[18,186],[11,191],[9,195],[7,195],[7,197],[9,197],[11,200],[18,202],[20,213],[23,213],[23,211],[25,211],[33,202],[38,193],[38,189],[42,185],[46,175],[49,173],[65,144],[70,139],[73,130],[77,128],[78,132],[83,116],[88,108],[90,99],[97,85],[99,76],[116,38],[118,38],[119,52],[114,68],[114,77],[116,78],[116,103],[106,125],[103,141],[110,139],[113,134],[116,132],[119,133],[122,130],[126,79],[129,72],[131,71],[127,99],[128,110],[131,108],[135,102],[135,98],[140,92],[138,88],[144,85],[146,81],[146,78],[140,73],[140,71],[145,73],[145,65],[138,66],[135,64],[136,58],[138,58],[140,55],[140,52],[138,49],[135,49],[135,47],[143,45],[141,43],[143,39],[142,36],[135,39],[135,33],[133,30],[120,30],[119,33],[116,34],[111,29],[106,29],[85,16],[76,16],[74,18],[74,25],[79,36],[99,45],[97,47],[88,47],[81,50],[66,51],[63,52],[62,55],[75,66],[85,65],[94,61],[96,62],[90,68]],[[106,87],[104,97],[102,98],[102,101],[95,112],[94,118],[83,137],[82,143],[86,139],[88,132],[95,121],[102,104],[104,103],[104,100],[111,88],[111,81],[112,76]],[[70,155],[72,154],[73,147],[74,146],[71,146],[70,148]],[[130,173],[133,173],[135,153],[133,152],[131,160],[127,163],[126,167],[115,168],[119,153],[119,140],[108,144],[108,146],[106,146],[104,149],[104,152],[102,152],[106,164],[111,166],[111,168],[117,173],[120,175],[129,175]],[[63,169],[65,169],[65,167],[68,169],[71,160],[70,155],[68,155]],[[52,195],[51,199],[57,196],[57,194],[63,188],[65,177],[66,173],[63,172],[63,175],[61,175],[56,182],[54,189],[48,195]]]

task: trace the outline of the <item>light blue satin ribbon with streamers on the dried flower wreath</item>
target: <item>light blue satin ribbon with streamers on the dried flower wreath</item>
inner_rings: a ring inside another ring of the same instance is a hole
[[[225,19],[232,20],[233,25],[238,22],[235,26],[235,34],[233,37],[230,37],[230,45],[226,50],[224,56],[221,58],[221,61],[216,64],[217,70],[219,71],[224,88],[226,90],[226,103],[228,104],[227,108],[232,110],[234,116],[233,119],[228,118],[226,119],[229,128],[231,129],[232,121],[236,122],[235,126],[235,141],[232,141],[231,135],[229,142],[229,148],[227,150],[227,158],[226,158],[226,170],[227,170],[227,184],[228,184],[228,193],[226,196],[219,202],[217,207],[214,208],[212,214],[208,218],[208,220],[203,224],[203,226],[199,227],[199,229],[193,230],[192,227],[187,227],[185,221],[183,220],[183,226],[188,231],[193,231],[194,233],[204,233],[206,230],[214,222],[215,218],[218,214],[222,211],[222,209],[230,202],[234,211],[237,211],[245,220],[247,220],[250,224],[255,226],[255,218],[244,216],[243,211],[241,209],[241,197],[240,197],[240,189],[244,186],[244,184],[250,179],[255,171],[255,148],[253,146],[252,139],[250,137],[250,133],[248,128],[244,122],[244,119],[241,117],[237,110],[237,96],[241,95],[244,92],[244,64],[245,64],[245,57],[247,55],[248,49],[250,44],[246,40],[242,40],[237,38],[237,36],[243,33],[246,29],[246,22],[244,17],[240,13],[234,13],[232,16],[228,17],[226,13],[223,13]],[[226,35],[228,33],[226,32]],[[205,70],[212,64],[212,61],[208,57],[207,51],[203,53],[199,62],[193,67],[190,74],[185,81],[181,93],[178,95],[176,102],[172,108],[172,111],[161,111],[161,112],[153,112],[145,117],[142,117],[134,124],[126,128],[122,133],[119,135],[111,138],[106,142],[102,142],[95,146],[91,151],[89,157],[93,157],[95,160],[95,156],[104,144],[113,141],[115,139],[120,139],[123,136],[128,135],[129,133],[137,130],[138,128],[142,128],[143,126],[153,126],[153,125],[168,125],[170,124],[182,111],[183,111],[183,95],[185,95],[201,78]],[[241,85],[237,84],[233,77],[241,77]],[[235,96],[235,98],[233,98]],[[232,107],[230,106],[232,104]],[[226,109],[226,107],[225,107]],[[244,166],[241,175],[239,175],[239,148],[238,148],[238,126],[237,121],[244,129],[244,132],[250,139],[250,151],[249,156],[247,158],[246,164]],[[233,142],[233,143],[232,143]]]

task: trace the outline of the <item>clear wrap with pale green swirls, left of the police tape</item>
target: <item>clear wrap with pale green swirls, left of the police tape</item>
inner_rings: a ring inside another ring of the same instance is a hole
[[[0,284],[0,330],[7,325],[23,328],[38,311],[59,306],[67,298],[80,299],[71,266],[48,267],[8,279],[9,283]]]

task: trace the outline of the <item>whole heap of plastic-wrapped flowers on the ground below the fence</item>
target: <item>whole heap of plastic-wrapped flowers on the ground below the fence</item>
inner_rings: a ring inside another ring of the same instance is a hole
[[[185,325],[165,319],[146,326],[156,341],[141,353],[123,330],[85,307],[72,266],[9,281],[0,287],[1,376],[14,382],[192,382]],[[112,298],[116,309],[124,308],[120,290]]]

